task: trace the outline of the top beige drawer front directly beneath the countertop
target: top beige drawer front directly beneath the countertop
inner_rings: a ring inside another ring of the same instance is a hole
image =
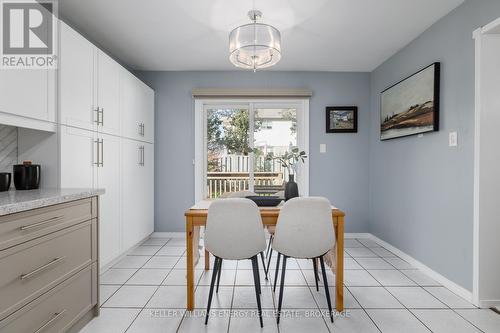
[[[91,198],[2,216],[0,217],[0,250],[91,218]]]

